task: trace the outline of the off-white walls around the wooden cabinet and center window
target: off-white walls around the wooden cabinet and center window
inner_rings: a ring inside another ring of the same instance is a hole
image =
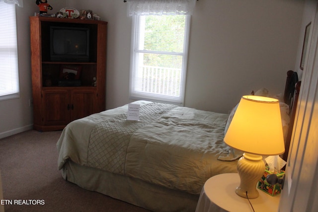
[[[131,17],[123,0],[54,0],[52,13],[71,6],[108,21],[106,107],[128,97]],[[191,17],[185,106],[227,113],[243,94],[261,87],[283,92],[295,68],[304,1],[199,0]],[[19,99],[0,102],[0,138],[32,128],[29,20],[35,1],[17,8]],[[2,121],[3,120],[3,121]]]

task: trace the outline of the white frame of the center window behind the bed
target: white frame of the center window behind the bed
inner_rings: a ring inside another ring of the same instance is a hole
[[[130,62],[130,77],[129,77],[129,98],[137,100],[149,100],[162,103],[176,104],[179,106],[184,105],[184,94],[185,94],[185,84],[186,84],[186,70],[187,70],[187,57],[188,57],[188,45],[189,45],[189,34],[190,34],[190,18],[191,15],[185,15],[185,29],[184,29],[184,42],[183,42],[183,53],[167,53],[160,51],[147,51],[138,50],[136,46],[139,46],[139,40],[136,40],[137,34],[137,24],[139,24],[141,16],[146,15],[133,15],[132,17],[132,40],[131,40],[131,62]],[[178,55],[182,56],[182,68],[181,68],[181,86],[179,97],[172,97],[167,95],[152,94],[147,92],[140,92],[134,90],[133,77],[135,72],[135,67],[137,63],[138,53],[157,53],[157,54],[167,54],[167,55]]]

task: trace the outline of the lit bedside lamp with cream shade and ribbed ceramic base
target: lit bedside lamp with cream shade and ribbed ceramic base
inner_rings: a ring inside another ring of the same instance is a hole
[[[244,198],[257,198],[256,183],[265,170],[262,155],[278,155],[285,151],[279,101],[242,96],[224,141],[244,151],[237,166],[240,184],[236,193]]]

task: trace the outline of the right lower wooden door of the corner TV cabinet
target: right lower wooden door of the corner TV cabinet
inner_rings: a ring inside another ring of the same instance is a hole
[[[71,120],[80,119],[95,113],[96,91],[72,90],[71,91]]]

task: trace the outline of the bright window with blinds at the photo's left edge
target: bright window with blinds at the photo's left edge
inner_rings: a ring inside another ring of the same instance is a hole
[[[0,100],[19,97],[15,4],[0,1]]]

